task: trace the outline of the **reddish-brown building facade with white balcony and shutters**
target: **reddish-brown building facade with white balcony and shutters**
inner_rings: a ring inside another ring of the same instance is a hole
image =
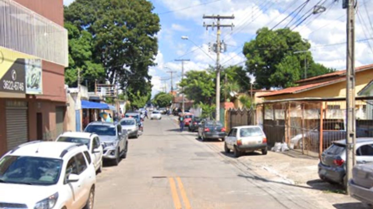
[[[0,155],[66,130],[63,0],[0,0]]]

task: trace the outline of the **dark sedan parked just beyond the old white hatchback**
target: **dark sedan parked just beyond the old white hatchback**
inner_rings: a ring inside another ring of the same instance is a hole
[[[219,121],[204,120],[200,126],[198,126],[198,139],[202,141],[206,139],[224,140],[225,135],[225,128]]]

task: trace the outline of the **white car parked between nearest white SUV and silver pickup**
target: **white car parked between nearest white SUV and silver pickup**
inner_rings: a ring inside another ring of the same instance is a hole
[[[103,148],[97,134],[69,131],[59,135],[56,141],[87,145],[96,172],[101,172]]]

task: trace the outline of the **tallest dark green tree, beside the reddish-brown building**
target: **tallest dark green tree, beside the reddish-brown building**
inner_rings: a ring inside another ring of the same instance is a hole
[[[160,30],[159,17],[147,0],[76,0],[65,7],[65,22],[90,33],[93,63],[106,70],[106,79],[119,81],[137,94],[148,96]]]

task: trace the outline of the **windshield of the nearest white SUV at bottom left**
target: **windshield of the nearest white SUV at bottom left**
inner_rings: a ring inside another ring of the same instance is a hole
[[[56,184],[62,160],[28,156],[6,156],[0,161],[1,183],[53,185]]]

